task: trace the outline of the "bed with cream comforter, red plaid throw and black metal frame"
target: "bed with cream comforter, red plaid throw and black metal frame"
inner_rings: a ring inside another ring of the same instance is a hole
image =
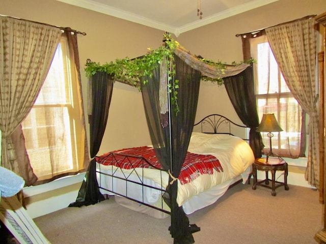
[[[177,179],[177,203],[186,215],[214,203],[231,185],[247,181],[254,155],[246,138],[233,135],[239,133],[237,129],[246,134],[246,127],[219,114],[206,116],[194,126]],[[115,195],[116,202],[156,218],[167,216],[162,212],[170,213],[161,197],[169,184],[169,172],[160,167],[152,146],[115,150],[96,157],[96,163],[102,194]]]

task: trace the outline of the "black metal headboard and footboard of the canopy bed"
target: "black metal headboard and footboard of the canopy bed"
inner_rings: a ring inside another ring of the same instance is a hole
[[[211,131],[209,131],[208,129],[206,129],[207,125],[209,125],[209,127],[211,128]],[[233,123],[233,121],[231,121],[230,119],[228,119],[227,117],[223,116],[223,115],[220,115],[220,114],[211,114],[211,115],[208,115],[206,117],[204,117],[203,119],[201,119],[198,123],[196,123],[194,125],[194,128],[196,126],[200,126],[201,127],[201,132],[202,133],[209,133],[209,134],[228,134],[228,135],[233,135],[232,134],[232,125],[235,126],[235,127],[238,127],[238,128],[247,128],[246,126],[241,126],[241,125],[238,125],[236,123]],[[226,130],[225,126],[228,128]],[[205,128],[204,128],[205,127]],[[219,129],[221,128],[224,128],[222,132],[219,132]],[[243,140],[248,140],[247,138],[242,138]],[[126,163],[126,161],[128,163],[130,163],[130,167],[132,168],[131,172],[126,174],[126,173],[123,173],[123,177],[122,176],[119,176],[119,175],[115,175],[115,173],[117,172],[117,169],[114,170],[114,165],[111,165],[111,174],[110,173],[104,173],[104,172],[101,172],[101,164],[98,164],[98,169],[96,170],[96,173],[99,174],[99,188],[104,190],[104,191],[107,191],[108,193],[113,193],[115,195],[118,195],[118,196],[121,196],[121,197],[124,197],[124,198],[127,198],[129,200],[132,200],[134,202],[138,202],[140,204],[143,204],[145,206],[148,206],[148,207],[151,207],[151,208],[154,208],[156,210],[159,210],[159,211],[162,211],[162,212],[165,212],[166,214],[171,214],[169,210],[166,210],[163,208],[164,206],[164,199],[163,199],[163,195],[164,193],[166,192],[165,189],[161,189],[161,188],[157,188],[157,187],[153,187],[153,186],[149,186],[149,185],[146,185],[144,184],[144,168],[142,167],[142,175],[139,175],[137,173],[137,171],[135,170],[135,168],[132,166],[132,163],[131,163],[131,160],[140,160],[141,162],[141,166],[144,166],[145,164],[149,165],[150,167],[147,167],[147,168],[155,168],[157,170],[160,170],[160,177],[161,177],[161,186],[162,186],[162,171],[165,171],[165,170],[162,170],[160,168],[157,168],[155,166],[153,166],[152,164],[150,164],[150,162],[148,162],[145,158],[142,158],[142,157],[137,157],[137,156],[130,156],[130,155],[125,155],[125,154],[119,154],[119,153],[110,153],[108,154],[106,157],[111,157],[112,158],[112,162],[117,162],[116,160],[116,157],[117,156],[121,156],[121,157],[124,157],[124,163]],[[166,172],[166,171],[165,171]],[[134,181],[134,180],[131,180],[129,179],[130,175],[133,173],[133,175],[136,175],[137,178],[139,179],[140,182],[137,182],[137,181]],[[120,179],[120,180],[125,180],[125,192],[128,193],[128,189],[127,189],[127,185],[128,185],[128,182],[131,182],[133,184],[137,184],[137,185],[140,185],[142,186],[142,196],[141,196],[141,199],[142,201],[140,200],[137,200],[137,199],[134,199],[130,196],[128,196],[128,194],[121,194],[121,193],[118,193],[118,192],[115,192],[113,190],[110,190],[110,189],[106,189],[104,187],[102,187],[100,185],[101,183],[101,175],[106,175],[106,176],[110,176],[112,178],[112,189],[114,189],[113,187],[113,184],[114,184],[114,178],[116,179]],[[237,182],[235,183],[237,184]],[[233,184],[233,185],[235,185]],[[232,186],[233,186],[232,185]],[[231,187],[231,186],[230,186]],[[161,199],[161,202],[160,202],[160,207],[157,207],[157,206],[154,206],[154,205],[151,205],[151,204],[148,204],[144,201],[144,192],[145,192],[145,189],[146,188],[151,188],[151,189],[155,189],[157,191],[160,191],[161,194],[160,194],[160,199]]]

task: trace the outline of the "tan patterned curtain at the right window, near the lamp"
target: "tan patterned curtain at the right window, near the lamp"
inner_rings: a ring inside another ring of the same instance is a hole
[[[304,18],[265,29],[271,50],[286,84],[309,114],[306,180],[319,189],[319,138],[316,99],[316,38],[314,18]]]

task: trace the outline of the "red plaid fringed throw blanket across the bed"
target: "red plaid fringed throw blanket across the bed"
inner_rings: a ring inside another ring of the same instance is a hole
[[[117,153],[117,154],[112,154]],[[132,169],[137,167],[153,168],[148,164],[144,164],[142,158],[157,168],[161,168],[155,155],[154,148],[148,146],[133,147],[113,151],[96,158],[99,164],[114,165],[123,169]],[[128,158],[128,156],[137,156],[138,159]],[[186,184],[196,179],[201,174],[213,174],[214,169],[218,172],[223,168],[218,159],[212,155],[200,155],[187,152],[183,166],[181,168],[178,179],[181,184]]]

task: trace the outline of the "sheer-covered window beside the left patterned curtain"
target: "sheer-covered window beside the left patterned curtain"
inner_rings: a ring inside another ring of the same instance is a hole
[[[38,180],[83,168],[85,126],[67,38],[62,37],[41,92],[22,123],[25,145]]]

